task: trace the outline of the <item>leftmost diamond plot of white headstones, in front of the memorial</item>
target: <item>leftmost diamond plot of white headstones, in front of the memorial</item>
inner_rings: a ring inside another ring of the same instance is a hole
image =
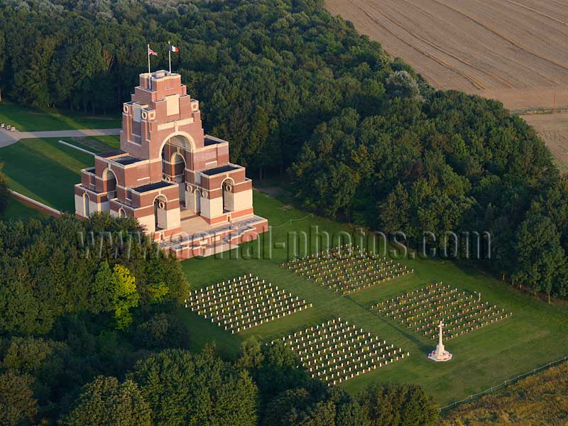
[[[201,288],[190,294],[191,308],[232,334],[276,320],[308,307],[307,303],[252,274]]]

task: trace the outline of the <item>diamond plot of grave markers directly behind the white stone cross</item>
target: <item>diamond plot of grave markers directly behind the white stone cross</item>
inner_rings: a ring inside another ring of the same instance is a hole
[[[513,315],[481,301],[481,293],[468,294],[443,283],[427,285],[393,297],[371,308],[430,339],[438,338],[440,321],[447,340],[473,332]]]

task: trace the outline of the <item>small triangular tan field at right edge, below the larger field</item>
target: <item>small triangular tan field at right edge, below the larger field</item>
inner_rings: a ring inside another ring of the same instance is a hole
[[[522,116],[533,126],[555,156],[558,167],[568,172],[568,113],[527,114]]]

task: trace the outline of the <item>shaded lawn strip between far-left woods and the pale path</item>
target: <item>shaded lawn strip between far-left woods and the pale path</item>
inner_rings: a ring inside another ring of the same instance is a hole
[[[119,114],[84,114],[55,108],[23,107],[2,101],[0,123],[16,126],[19,131],[116,129],[121,126],[121,118]]]

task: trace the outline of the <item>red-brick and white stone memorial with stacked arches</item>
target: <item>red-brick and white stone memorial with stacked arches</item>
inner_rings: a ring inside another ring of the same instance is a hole
[[[179,259],[256,239],[252,180],[229,162],[229,143],[204,134],[200,103],[181,76],[143,73],[122,109],[120,149],[99,153],[75,185],[75,213],[134,217]]]

